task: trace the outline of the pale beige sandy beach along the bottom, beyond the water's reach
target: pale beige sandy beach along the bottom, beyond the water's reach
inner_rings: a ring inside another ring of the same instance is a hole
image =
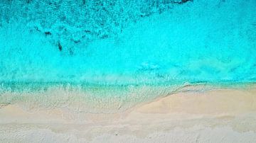
[[[176,93],[124,113],[0,109],[0,142],[256,142],[256,88]]]

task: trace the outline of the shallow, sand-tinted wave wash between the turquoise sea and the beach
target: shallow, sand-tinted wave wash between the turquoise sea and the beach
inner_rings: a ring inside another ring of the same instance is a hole
[[[66,108],[75,113],[117,113],[139,103],[174,93],[215,89],[249,89],[255,83],[183,83],[163,85],[100,85],[75,83],[0,84],[0,107],[18,105],[26,110]]]

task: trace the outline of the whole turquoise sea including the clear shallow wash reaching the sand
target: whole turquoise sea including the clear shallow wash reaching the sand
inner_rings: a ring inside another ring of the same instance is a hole
[[[255,82],[255,0],[0,0],[0,104],[107,112]]]

